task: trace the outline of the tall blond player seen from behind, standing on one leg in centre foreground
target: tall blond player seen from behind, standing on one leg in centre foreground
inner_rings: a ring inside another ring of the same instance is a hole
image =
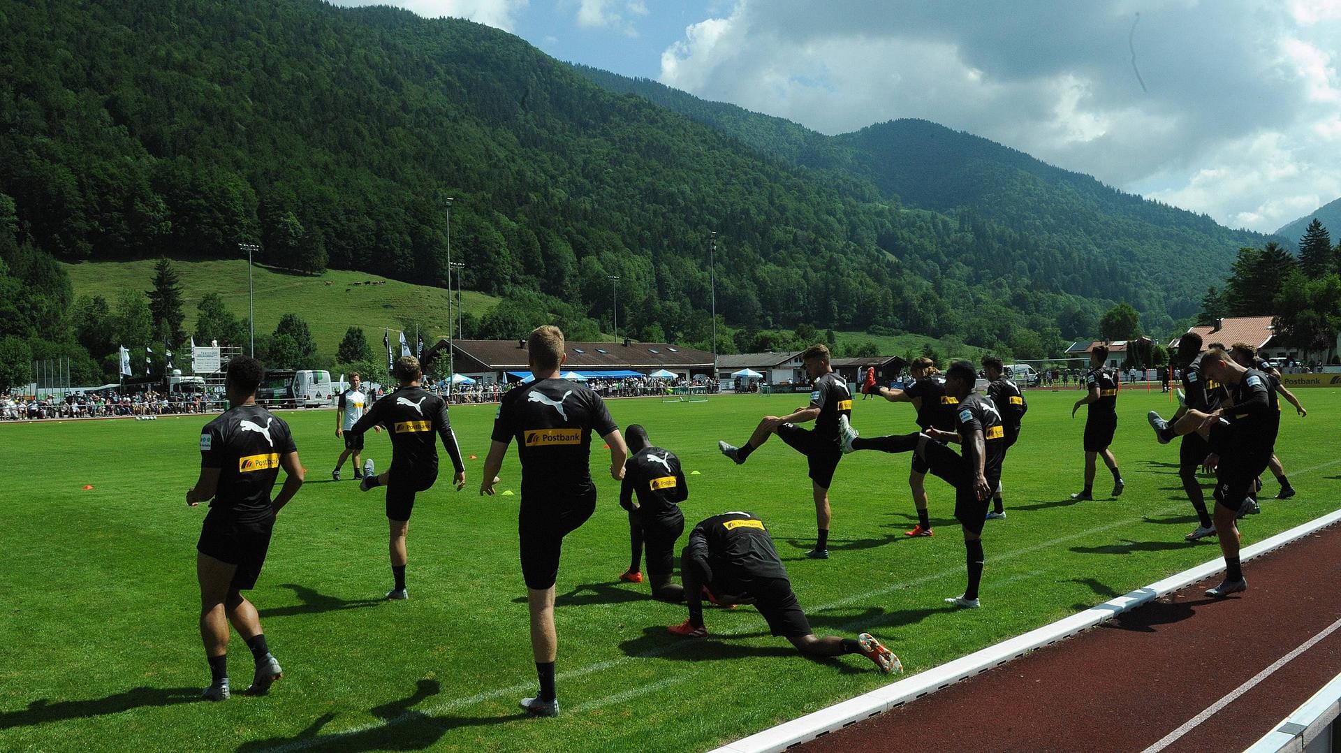
[[[595,485],[589,467],[591,431],[610,446],[610,478],[614,481],[624,479],[629,450],[601,396],[585,384],[559,379],[567,358],[559,328],[536,328],[526,348],[535,381],[512,388],[499,403],[480,494],[493,494],[507,446],[515,438],[522,459],[522,509],[518,514],[522,577],[531,612],[531,652],[540,681],[540,693],[523,698],[522,709],[535,717],[555,717],[559,701],[554,687],[558,656],[554,581],[563,537],[595,510]]]

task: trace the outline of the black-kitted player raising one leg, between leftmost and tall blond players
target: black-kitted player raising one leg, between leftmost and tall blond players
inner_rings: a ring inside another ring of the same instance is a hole
[[[414,495],[426,491],[437,481],[437,446],[434,438],[443,442],[443,450],[452,459],[456,475],[452,483],[460,491],[465,486],[465,463],[461,462],[461,448],[456,443],[452,421],[447,417],[447,403],[421,387],[424,372],[418,358],[401,356],[396,360],[392,373],[398,387],[373,404],[345,434],[362,436],[367,430],[385,425],[392,436],[392,466],[377,475],[373,459],[363,460],[363,481],[358,489],[370,491],[386,487],[386,523],[389,530],[388,552],[392,560],[392,589],[386,599],[404,601],[409,599],[405,588],[405,536],[410,530],[410,513],[414,511]]]

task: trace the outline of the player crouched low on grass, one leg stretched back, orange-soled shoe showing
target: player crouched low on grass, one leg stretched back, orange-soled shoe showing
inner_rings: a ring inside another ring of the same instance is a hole
[[[750,513],[723,513],[695,526],[680,556],[680,577],[689,619],[670,625],[668,630],[673,635],[707,638],[708,628],[703,623],[703,593],[707,591],[720,605],[754,604],[772,635],[786,638],[809,656],[861,654],[882,672],[904,668],[898,656],[868,632],[857,638],[817,638],[811,632],[768,530]]]

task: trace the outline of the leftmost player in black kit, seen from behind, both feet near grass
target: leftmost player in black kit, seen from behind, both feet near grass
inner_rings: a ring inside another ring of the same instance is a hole
[[[241,595],[256,585],[266,564],[275,517],[303,486],[303,466],[288,424],[256,404],[264,373],[256,358],[235,356],[228,361],[224,392],[231,407],[200,432],[200,478],[186,490],[188,506],[209,502],[196,544],[200,638],[211,675],[201,693],[207,701],[228,701],[231,695],[229,623],[256,660],[247,694],[261,695],[284,676],[266,646],[256,607]],[[282,467],[284,486],[271,499]]]

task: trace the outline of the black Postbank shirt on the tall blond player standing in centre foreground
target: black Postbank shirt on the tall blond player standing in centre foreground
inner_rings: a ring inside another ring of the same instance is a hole
[[[493,442],[516,439],[522,459],[522,502],[595,494],[591,483],[591,432],[616,431],[605,400],[585,384],[544,379],[518,387],[499,401]]]

